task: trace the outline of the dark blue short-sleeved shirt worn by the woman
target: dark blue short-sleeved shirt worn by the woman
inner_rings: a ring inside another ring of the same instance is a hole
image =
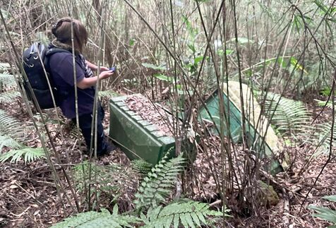
[[[73,77],[73,56],[71,52],[57,52],[49,57],[49,66],[54,85],[59,91],[61,108],[64,116],[68,119],[76,117],[75,107],[75,88]],[[77,83],[83,78],[92,76],[92,72],[88,72],[88,66],[85,64],[83,56],[76,56],[76,81]],[[77,88],[78,94],[78,114],[92,113],[93,103],[95,100],[95,87],[86,88],[84,90]]]

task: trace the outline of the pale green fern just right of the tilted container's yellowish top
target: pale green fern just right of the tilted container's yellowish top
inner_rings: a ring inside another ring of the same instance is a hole
[[[265,114],[283,136],[295,138],[298,134],[310,131],[310,114],[302,102],[268,93]]]

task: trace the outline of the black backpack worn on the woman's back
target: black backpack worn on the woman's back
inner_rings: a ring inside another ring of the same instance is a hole
[[[34,92],[41,109],[49,109],[54,107],[47,78],[49,79],[49,83],[52,88],[56,106],[59,106],[59,92],[54,86],[52,77],[49,75],[49,56],[56,52],[69,51],[57,47],[48,48],[40,42],[35,42],[32,44],[32,46],[30,46],[28,49],[25,49],[23,52],[23,69],[25,70],[25,73],[28,77],[28,81],[24,81],[23,86],[25,88],[25,92],[28,95],[28,100],[32,100],[32,94],[28,89],[28,83],[30,83],[32,91]],[[47,75],[44,73],[43,66],[47,71]],[[37,106],[36,104],[34,105],[35,107]]]

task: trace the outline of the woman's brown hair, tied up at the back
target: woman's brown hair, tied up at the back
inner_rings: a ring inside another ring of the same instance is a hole
[[[61,18],[52,28],[52,34],[59,42],[71,45],[71,23],[73,24],[73,43],[75,49],[83,51],[83,47],[88,42],[88,31],[80,20],[71,18]]]

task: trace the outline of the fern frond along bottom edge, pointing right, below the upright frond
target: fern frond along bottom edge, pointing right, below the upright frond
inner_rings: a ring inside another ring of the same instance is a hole
[[[229,216],[229,210],[224,210],[225,216]],[[222,212],[210,210],[207,203],[187,200],[148,210],[145,227],[202,227],[211,224],[208,217],[212,217],[213,222],[222,215]]]

